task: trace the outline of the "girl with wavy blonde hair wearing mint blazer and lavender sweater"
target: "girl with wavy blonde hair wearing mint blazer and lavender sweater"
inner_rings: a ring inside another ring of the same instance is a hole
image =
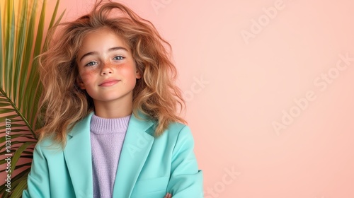
[[[39,57],[45,125],[23,197],[203,197],[170,45],[154,25],[101,1],[60,27]]]

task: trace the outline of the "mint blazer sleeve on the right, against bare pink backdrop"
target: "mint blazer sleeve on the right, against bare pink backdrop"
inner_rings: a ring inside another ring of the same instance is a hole
[[[190,128],[185,126],[178,134],[172,153],[167,192],[170,192],[173,198],[203,197],[202,170],[198,170],[193,148],[193,135]]]

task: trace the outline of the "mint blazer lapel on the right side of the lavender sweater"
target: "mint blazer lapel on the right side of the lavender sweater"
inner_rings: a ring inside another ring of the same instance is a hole
[[[130,197],[132,194],[137,177],[154,143],[154,130],[149,130],[153,124],[154,122],[149,120],[138,120],[134,114],[130,117],[115,175],[113,197]]]

